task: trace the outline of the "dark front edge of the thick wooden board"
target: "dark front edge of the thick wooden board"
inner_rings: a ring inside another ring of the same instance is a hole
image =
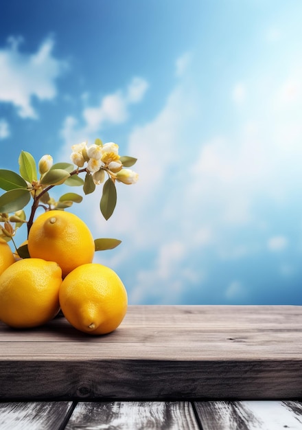
[[[293,361],[0,361],[0,374],[1,400],[302,398]]]

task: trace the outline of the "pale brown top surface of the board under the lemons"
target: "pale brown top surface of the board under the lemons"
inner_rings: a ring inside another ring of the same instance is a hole
[[[0,360],[300,360],[301,327],[302,306],[130,306],[121,326],[100,337],[64,318],[32,330],[0,323]]]

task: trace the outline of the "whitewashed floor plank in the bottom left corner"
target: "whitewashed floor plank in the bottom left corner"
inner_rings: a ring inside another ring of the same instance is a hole
[[[0,403],[1,430],[57,430],[68,417],[72,402]]]

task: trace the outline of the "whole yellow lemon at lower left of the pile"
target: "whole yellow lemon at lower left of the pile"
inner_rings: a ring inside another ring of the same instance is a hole
[[[35,327],[60,310],[62,271],[40,258],[16,261],[0,275],[0,320],[15,328]]]

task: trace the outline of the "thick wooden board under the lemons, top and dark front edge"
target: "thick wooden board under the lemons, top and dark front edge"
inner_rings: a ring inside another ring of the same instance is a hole
[[[302,307],[129,306],[92,337],[0,323],[0,400],[299,400]]]

